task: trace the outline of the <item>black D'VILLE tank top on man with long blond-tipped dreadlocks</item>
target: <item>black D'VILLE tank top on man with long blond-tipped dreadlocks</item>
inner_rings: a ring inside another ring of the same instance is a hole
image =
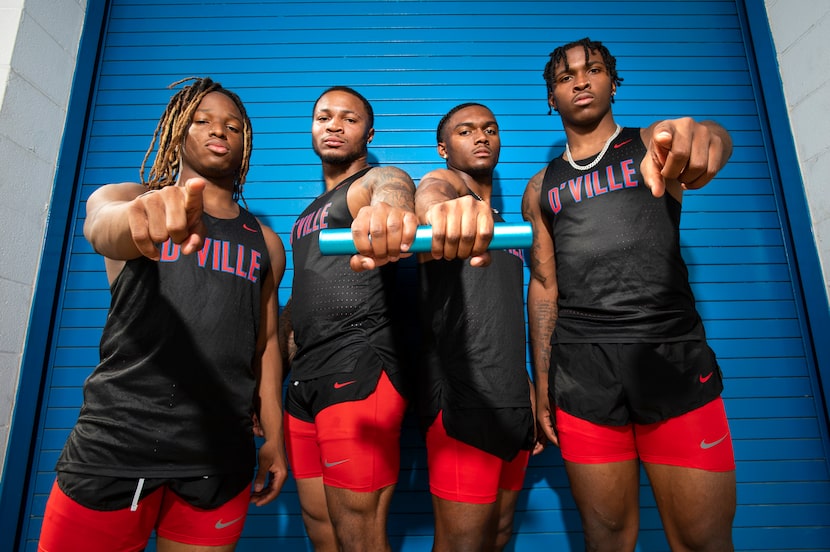
[[[271,268],[262,228],[202,217],[201,251],[169,240],[113,282],[101,361],[57,469],[112,477],[253,470],[252,362]]]

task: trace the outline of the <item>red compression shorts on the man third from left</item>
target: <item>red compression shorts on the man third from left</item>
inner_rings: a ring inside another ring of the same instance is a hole
[[[530,451],[506,462],[447,435],[443,412],[427,430],[429,490],[438,498],[469,504],[492,504],[499,489],[520,491]]]

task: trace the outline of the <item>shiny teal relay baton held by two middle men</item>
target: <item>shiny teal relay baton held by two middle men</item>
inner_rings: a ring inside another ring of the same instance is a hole
[[[524,249],[533,243],[533,230],[526,222],[497,222],[493,225],[493,239],[488,249]],[[427,253],[432,249],[432,227],[419,226],[409,251]],[[354,255],[357,253],[350,228],[320,230],[320,253],[323,255]]]

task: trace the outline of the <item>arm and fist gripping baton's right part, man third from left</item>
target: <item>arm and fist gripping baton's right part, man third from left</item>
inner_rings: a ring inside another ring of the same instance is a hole
[[[472,266],[490,263],[487,247],[493,239],[490,205],[466,193],[453,171],[427,173],[415,190],[415,214],[432,227],[433,259],[470,258]]]

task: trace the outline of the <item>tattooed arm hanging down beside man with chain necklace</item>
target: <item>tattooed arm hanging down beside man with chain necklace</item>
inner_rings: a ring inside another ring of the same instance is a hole
[[[542,435],[558,445],[556,420],[548,399],[550,338],[556,326],[559,291],[556,284],[556,262],[553,237],[540,205],[540,190],[545,171],[530,179],[522,197],[522,216],[533,228],[533,244],[528,263],[530,281],[527,286],[527,317],[530,331],[531,363],[536,386],[536,421]]]

